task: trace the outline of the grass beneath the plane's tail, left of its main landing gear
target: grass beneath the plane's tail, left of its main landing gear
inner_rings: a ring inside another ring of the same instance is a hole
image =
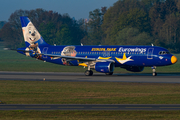
[[[44,63],[31,57],[26,57],[16,51],[0,51],[0,71],[24,72],[82,72],[83,67],[62,66]]]

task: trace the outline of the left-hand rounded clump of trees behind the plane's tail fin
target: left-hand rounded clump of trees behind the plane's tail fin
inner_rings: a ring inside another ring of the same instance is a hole
[[[79,45],[85,34],[80,29],[80,24],[68,14],[61,15],[43,9],[17,10],[0,30],[0,38],[5,41],[6,47],[25,46],[20,16],[28,16],[45,41],[51,45]]]

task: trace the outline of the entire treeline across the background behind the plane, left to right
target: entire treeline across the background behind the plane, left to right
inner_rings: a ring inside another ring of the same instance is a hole
[[[180,52],[180,1],[119,0],[89,12],[89,20],[36,9],[17,10],[0,31],[6,47],[24,45],[19,16],[28,16],[49,44],[151,45]]]

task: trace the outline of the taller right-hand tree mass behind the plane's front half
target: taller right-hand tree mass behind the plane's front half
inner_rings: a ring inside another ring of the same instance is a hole
[[[102,10],[101,10],[102,11]],[[180,1],[119,0],[105,14],[90,12],[84,41],[102,45],[151,45],[180,52]]]

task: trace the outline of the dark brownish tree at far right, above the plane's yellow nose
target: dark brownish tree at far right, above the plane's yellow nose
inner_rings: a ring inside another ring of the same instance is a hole
[[[178,1],[166,0],[153,5],[149,11],[151,18],[151,34],[156,42],[171,51],[179,51],[175,47],[179,41],[180,14],[178,11]],[[174,50],[173,50],[174,49]]]

